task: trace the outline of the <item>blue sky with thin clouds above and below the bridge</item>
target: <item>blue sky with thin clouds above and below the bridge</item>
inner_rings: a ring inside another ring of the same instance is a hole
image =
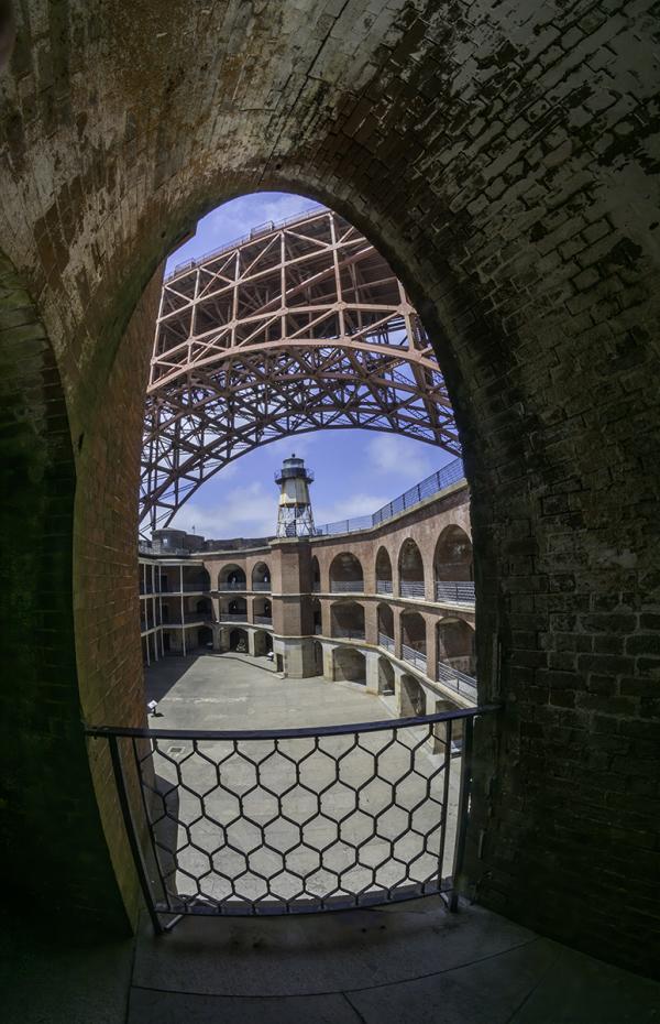
[[[285,220],[318,204],[285,193],[258,193],[226,203],[197,226],[197,233],[167,261],[198,259],[242,238],[264,221]],[[293,453],[316,480],[311,487],[318,525],[375,512],[402,491],[451,460],[440,448],[407,437],[370,431],[320,431],[265,445],[212,477],[173,520],[207,537],[266,536],[274,533],[277,487],[273,473]]]

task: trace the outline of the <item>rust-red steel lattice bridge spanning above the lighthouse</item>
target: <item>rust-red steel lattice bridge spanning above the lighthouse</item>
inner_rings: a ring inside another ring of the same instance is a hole
[[[143,529],[257,445],[360,427],[460,446],[442,374],[387,262],[337,214],[253,231],[165,281],[147,389]]]

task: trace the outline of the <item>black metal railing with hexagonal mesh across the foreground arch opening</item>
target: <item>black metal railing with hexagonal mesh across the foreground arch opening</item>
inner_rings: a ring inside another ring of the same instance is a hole
[[[86,732],[109,744],[161,932],[189,914],[322,912],[438,893],[457,909],[473,725],[495,710],[258,732]]]

